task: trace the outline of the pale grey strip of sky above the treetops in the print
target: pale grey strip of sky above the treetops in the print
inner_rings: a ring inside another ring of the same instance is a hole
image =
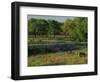
[[[51,15],[28,15],[28,20],[31,18],[45,19],[45,20],[57,20],[59,22],[64,22],[66,19],[73,19],[72,16],[51,16]]]

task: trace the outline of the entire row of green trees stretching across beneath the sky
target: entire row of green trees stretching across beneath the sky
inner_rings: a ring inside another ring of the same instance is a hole
[[[28,35],[62,35],[71,41],[87,41],[87,17],[75,17],[63,22],[31,18],[28,20]]]

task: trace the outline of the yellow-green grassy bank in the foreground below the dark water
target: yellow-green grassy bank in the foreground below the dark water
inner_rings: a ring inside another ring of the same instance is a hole
[[[28,57],[28,66],[87,64],[87,51],[86,49],[81,51],[84,51],[86,55],[80,57],[79,50],[32,55]]]

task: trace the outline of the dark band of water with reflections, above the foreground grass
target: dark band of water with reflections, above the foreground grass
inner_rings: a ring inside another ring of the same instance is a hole
[[[57,43],[57,44],[39,44],[28,46],[29,54],[44,54],[72,50],[81,50],[87,48],[87,43]]]

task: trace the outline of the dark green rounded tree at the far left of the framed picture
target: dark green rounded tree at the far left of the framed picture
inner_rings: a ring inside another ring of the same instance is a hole
[[[48,22],[43,19],[32,18],[28,21],[28,33],[35,35],[46,35],[48,32]]]

